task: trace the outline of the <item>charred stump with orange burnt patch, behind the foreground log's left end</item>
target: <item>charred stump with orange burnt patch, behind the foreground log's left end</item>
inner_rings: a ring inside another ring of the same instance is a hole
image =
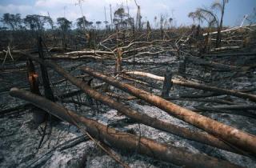
[[[30,58],[26,61],[26,68],[28,82],[30,83],[30,91],[33,94],[41,95],[38,85],[38,74],[35,72],[34,64]],[[35,124],[41,124],[46,121],[46,112],[44,110],[39,109],[37,106],[33,106],[31,112],[33,113],[33,121]]]

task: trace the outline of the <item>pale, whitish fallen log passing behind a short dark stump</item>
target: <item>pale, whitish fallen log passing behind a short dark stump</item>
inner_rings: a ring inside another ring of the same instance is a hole
[[[155,80],[159,80],[159,81],[163,81],[164,77],[161,76],[157,76],[154,74],[150,74],[150,73],[146,73],[146,72],[140,72],[140,71],[131,71],[131,72],[126,72],[126,74],[135,74],[135,75],[139,75],[139,76],[143,76],[143,77],[147,77],[147,78],[153,78]],[[203,85],[197,82],[191,82],[189,80],[179,80],[179,79],[172,79],[172,82],[175,85],[178,86],[186,86],[186,87],[191,87],[194,89],[198,89],[198,90],[206,90],[206,91],[212,91],[212,92],[216,92],[216,93],[221,93],[221,94],[230,94],[234,97],[237,98],[245,98],[245,99],[250,99],[253,102],[256,102],[256,95],[254,94],[246,94],[243,93],[241,91],[238,90],[227,90],[227,89],[222,89],[219,88],[217,86],[210,86],[210,85]]]

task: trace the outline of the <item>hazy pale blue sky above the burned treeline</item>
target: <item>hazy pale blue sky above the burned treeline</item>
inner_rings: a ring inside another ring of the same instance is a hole
[[[0,14],[50,14],[51,18],[63,17],[70,21],[82,16],[81,10],[77,5],[77,0],[0,0]],[[137,7],[134,0],[127,0],[130,7],[130,14],[136,15]],[[177,26],[190,25],[192,20],[187,17],[190,11],[198,7],[210,6],[214,0],[137,0],[141,6],[142,20],[153,22],[154,16],[159,18],[160,14],[174,18]],[[106,18],[110,22],[110,4],[113,11],[126,0],[85,0],[82,2],[82,10],[86,19],[89,21],[104,21],[104,6],[106,6]],[[224,24],[226,26],[236,26],[242,21],[245,14],[251,14],[256,7],[256,0],[230,0],[226,5]],[[65,8],[65,10],[64,10]],[[65,11],[65,12],[64,12]]]

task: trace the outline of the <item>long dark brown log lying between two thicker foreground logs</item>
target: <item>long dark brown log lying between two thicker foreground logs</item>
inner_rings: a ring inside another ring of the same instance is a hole
[[[86,82],[83,82],[79,78],[75,78],[71,74],[68,74],[62,67],[58,66],[54,62],[45,61],[43,62],[42,59],[34,58],[35,61],[38,61],[45,66],[53,68],[58,74],[61,74],[64,78],[68,79],[72,82],[75,86],[78,86],[81,90],[83,90],[86,94],[88,94],[91,98],[102,102],[106,106],[110,106],[111,108],[122,112],[129,118],[133,118],[136,122],[141,122],[146,126],[152,126],[158,130],[163,130],[170,132],[171,134],[175,134],[181,136],[183,138],[187,138],[193,141],[202,142],[210,146],[215,146],[223,150],[229,150],[234,153],[243,154],[240,150],[235,150],[232,146],[226,144],[226,142],[222,142],[218,138],[210,134],[204,134],[201,132],[191,131],[186,128],[182,128],[180,126],[173,125],[168,122],[162,122],[156,118],[151,118],[146,114],[140,114],[135,110],[130,109],[128,106],[123,106],[121,103],[114,101],[112,98],[106,95],[102,95],[98,93],[96,90],[90,88]]]

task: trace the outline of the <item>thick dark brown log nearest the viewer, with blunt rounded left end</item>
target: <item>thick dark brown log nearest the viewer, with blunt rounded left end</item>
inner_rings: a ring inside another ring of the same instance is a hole
[[[80,126],[85,127],[86,131],[92,137],[120,150],[131,152],[137,151],[138,154],[145,154],[149,157],[165,162],[171,162],[179,166],[241,167],[203,154],[190,154],[184,148],[162,144],[150,138],[138,137],[134,134],[114,130],[92,119],[80,116],[71,110],[67,110],[63,106],[50,102],[46,98],[31,94],[27,91],[13,88],[10,90],[10,95],[31,102],[35,106],[46,110],[48,113],[53,114],[63,121],[70,122],[75,126],[78,126],[79,124]]]

